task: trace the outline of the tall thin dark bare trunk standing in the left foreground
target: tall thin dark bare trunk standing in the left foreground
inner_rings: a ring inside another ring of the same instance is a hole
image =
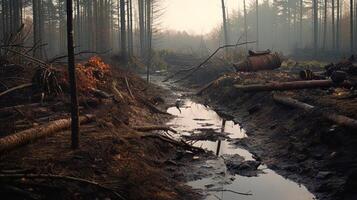
[[[74,63],[73,46],[73,2],[67,0],[67,49],[68,49],[68,75],[71,92],[71,130],[72,148],[79,147],[79,110],[76,84],[76,70]]]

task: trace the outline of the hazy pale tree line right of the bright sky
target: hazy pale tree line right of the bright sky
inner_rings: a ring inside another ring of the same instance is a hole
[[[244,0],[243,6],[227,19],[230,42],[243,35],[260,48],[356,51],[356,0]]]

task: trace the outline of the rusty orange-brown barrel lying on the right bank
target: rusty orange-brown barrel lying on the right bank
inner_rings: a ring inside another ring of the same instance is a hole
[[[281,59],[277,53],[248,56],[242,62],[234,64],[237,71],[255,72],[273,70],[281,66]]]

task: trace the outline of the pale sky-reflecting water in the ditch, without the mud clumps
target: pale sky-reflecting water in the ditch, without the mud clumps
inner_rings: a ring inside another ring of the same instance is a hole
[[[202,129],[228,134],[229,138],[248,137],[245,130],[232,121],[225,121],[212,109],[190,100],[183,100],[182,106],[172,107],[168,112],[176,118],[168,124],[178,130],[181,135],[197,134]],[[198,129],[198,130],[197,130]],[[229,139],[228,139],[229,140]],[[212,171],[212,176],[187,183],[195,189],[200,189],[206,199],[242,199],[242,200],[309,200],[314,199],[304,186],[283,178],[265,165],[259,167],[261,173],[256,177],[231,175],[221,155],[239,154],[246,160],[254,160],[247,150],[237,148],[227,139],[221,141],[198,141],[194,145],[213,151],[217,159],[208,160],[205,168]],[[215,190],[215,191],[212,191]],[[230,191],[229,191],[230,190]],[[249,193],[240,195],[235,192]]]

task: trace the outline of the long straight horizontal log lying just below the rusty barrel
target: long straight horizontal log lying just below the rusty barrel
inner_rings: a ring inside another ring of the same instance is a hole
[[[277,82],[267,84],[252,84],[252,85],[234,85],[242,92],[262,92],[262,91],[284,91],[284,90],[299,90],[312,88],[329,88],[329,87],[353,87],[357,84],[344,81],[340,84],[334,83],[332,80],[311,80],[311,81],[291,81]]]

